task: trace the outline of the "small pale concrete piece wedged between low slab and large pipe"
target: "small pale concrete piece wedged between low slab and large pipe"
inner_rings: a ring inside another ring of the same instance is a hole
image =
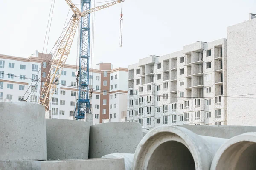
[[[125,170],[132,170],[132,162],[134,159],[133,153],[111,153],[102,156],[102,158],[123,158],[125,159]]]

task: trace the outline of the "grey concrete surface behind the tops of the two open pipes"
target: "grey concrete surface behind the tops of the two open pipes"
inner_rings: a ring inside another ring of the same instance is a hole
[[[195,126],[195,125],[179,125],[192,132],[203,135],[212,136],[217,138],[230,139],[234,136],[241,135],[247,132],[256,132],[256,126]]]

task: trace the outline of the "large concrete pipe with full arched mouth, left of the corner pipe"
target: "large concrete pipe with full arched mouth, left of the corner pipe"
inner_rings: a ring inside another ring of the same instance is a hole
[[[133,169],[209,170],[215,152],[227,140],[198,136],[183,127],[160,126],[140,141]]]

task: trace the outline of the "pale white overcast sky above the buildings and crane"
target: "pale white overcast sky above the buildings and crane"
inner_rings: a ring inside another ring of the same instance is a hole
[[[106,0],[95,0],[95,6]],[[42,52],[52,0],[0,0],[0,54],[29,57]],[[73,0],[79,4],[80,0]],[[162,56],[196,41],[226,38],[227,26],[256,14],[256,0],[125,0],[123,34],[119,47],[121,4],[95,12],[93,67],[112,63],[113,68],[137,63],[150,55]],[[50,52],[68,14],[65,0],[55,0],[48,45]],[[93,28],[91,28],[93,29]],[[76,65],[77,33],[66,64]],[[92,38],[91,38],[92,39]],[[46,42],[47,44],[47,42]],[[92,43],[91,43],[92,46]],[[92,56],[92,55],[91,55]]]

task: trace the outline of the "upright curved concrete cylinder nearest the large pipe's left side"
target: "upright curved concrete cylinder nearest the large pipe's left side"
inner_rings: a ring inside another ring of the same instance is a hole
[[[90,126],[89,158],[111,153],[134,153],[142,139],[142,128],[135,122],[110,122]]]

